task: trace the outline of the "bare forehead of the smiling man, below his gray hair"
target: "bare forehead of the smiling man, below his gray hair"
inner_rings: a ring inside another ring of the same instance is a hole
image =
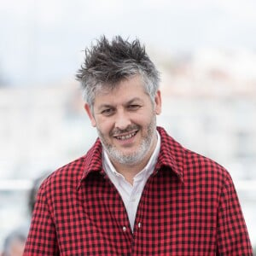
[[[133,98],[141,100],[149,98],[141,76],[124,79],[118,84],[114,84],[114,86],[106,87],[96,92],[95,105],[111,102],[129,102]]]

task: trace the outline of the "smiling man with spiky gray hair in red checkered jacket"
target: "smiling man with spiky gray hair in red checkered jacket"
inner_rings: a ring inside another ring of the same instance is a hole
[[[156,127],[140,42],[102,37],[77,78],[99,139],[42,184],[24,255],[252,255],[229,173]]]

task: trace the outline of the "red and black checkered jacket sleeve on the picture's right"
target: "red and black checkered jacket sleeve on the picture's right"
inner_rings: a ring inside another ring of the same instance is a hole
[[[230,175],[225,180],[218,208],[217,255],[253,255],[247,226]]]

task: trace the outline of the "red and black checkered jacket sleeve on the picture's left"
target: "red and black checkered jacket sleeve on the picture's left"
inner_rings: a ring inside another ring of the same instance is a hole
[[[37,202],[23,253],[23,256],[32,255],[60,255],[55,224],[49,212],[49,205],[44,195],[43,186],[38,190]]]

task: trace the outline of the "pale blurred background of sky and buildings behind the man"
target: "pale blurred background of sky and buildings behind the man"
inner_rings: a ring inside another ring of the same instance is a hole
[[[96,140],[74,76],[102,34],[146,45],[161,73],[158,124],[229,170],[256,246],[254,0],[0,3],[0,251],[29,223],[33,180]]]

